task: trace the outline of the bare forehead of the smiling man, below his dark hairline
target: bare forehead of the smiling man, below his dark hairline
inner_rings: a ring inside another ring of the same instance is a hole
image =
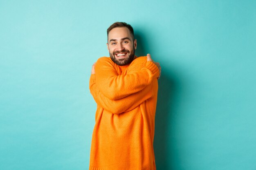
[[[126,27],[117,27],[109,31],[108,33],[108,40],[116,39],[120,40],[121,38],[132,38],[130,34],[130,30]]]

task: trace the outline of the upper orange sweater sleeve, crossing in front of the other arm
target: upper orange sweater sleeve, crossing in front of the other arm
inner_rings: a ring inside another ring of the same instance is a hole
[[[140,60],[135,59],[129,67],[139,67],[139,70],[118,75],[115,64],[108,57],[99,58],[95,65],[95,81],[99,91],[109,99],[121,99],[141,91],[159,76],[158,67],[150,61],[142,66]]]

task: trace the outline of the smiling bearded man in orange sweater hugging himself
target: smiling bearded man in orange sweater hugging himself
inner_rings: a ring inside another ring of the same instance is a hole
[[[157,79],[150,54],[136,57],[133,28],[115,22],[108,30],[110,57],[92,66],[90,92],[97,103],[90,170],[155,170],[153,150]]]

